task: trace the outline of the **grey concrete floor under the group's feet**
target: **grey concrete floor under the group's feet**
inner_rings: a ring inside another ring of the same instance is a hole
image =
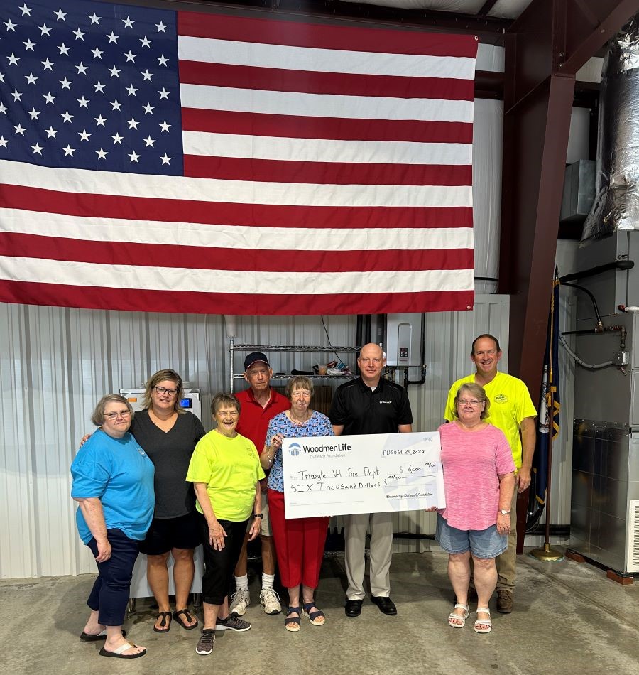
[[[252,629],[218,633],[209,657],[195,653],[197,630],[174,622],[167,635],[154,633],[151,601],[138,600],[126,629],[148,654],[131,661],[99,657],[99,644],[78,639],[92,575],[3,581],[0,673],[639,674],[639,580],[622,586],[587,563],[520,556],[515,611],[494,611],[493,632],[477,635],[472,614],[462,630],[447,625],[452,593],[446,563],[440,551],[396,554],[391,584],[398,616],[386,617],[366,601],[361,617],[347,619],[344,561],[327,559],[317,594],[324,627],[304,621],[293,634],[284,630],[281,615],[267,616],[253,604],[244,617]],[[258,594],[253,579],[253,602]]]

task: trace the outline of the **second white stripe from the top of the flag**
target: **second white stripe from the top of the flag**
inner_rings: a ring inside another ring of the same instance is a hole
[[[368,119],[473,121],[473,102],[444,99],[306,94],[180,84],[180,100],[187,108],[266,114],[285,110],[300,117],[360,119],[365,112]]]

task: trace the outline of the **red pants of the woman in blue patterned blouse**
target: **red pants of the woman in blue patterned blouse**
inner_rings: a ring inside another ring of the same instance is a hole
[[[317,588],[329,518],[287,520],[284,493],[271,488],[268,490],[268,508],[282,585],[295,588],[302,583],[309,588]]]

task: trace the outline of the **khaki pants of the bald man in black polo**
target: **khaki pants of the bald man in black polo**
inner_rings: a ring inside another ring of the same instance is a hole
[[[346,546],[344,563],[349,588],[346,598],[364,600],[364,549],[366,530],[371,522],[371,593],[375,596],[391,595],[391,556],[393,552],[393,522],[391,513],[361,513],[345,517]]]

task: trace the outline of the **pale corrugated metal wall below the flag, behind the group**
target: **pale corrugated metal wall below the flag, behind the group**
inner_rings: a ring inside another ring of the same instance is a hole
[[[354,344],[354,317],[325,321],[332,344]],[[239,342],[329,344],[319,317],[237,322]],[[478,296],[473,312],[427,315],[426,383],[409,392],[416,429],[439,426],[449,384],[470,372],[471,340],[486,330],[507,344],[508,298]],[[346,360],[353,365],[353,358]],[[273,366],[307,369],[317,360],[273,355]],[[94,571],[75,531],[69,465],[80,438],[92,431],[89,417],[99,397],[138,385],[164,367],[200,387],[207,410],[212,394],[229,389],[222,316],[0,304],[0,578]],[[431,534],[433,523],[432,514],[409,513],[398,515],[395,527]],[[420,546],[405,539],[398,550]]]

